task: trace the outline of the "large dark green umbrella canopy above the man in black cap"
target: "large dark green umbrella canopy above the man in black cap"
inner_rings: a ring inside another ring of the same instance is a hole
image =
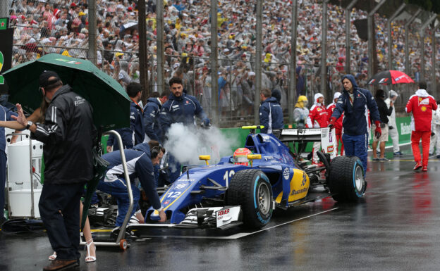
[[[26,111],[39,108],[39,75],[44,70],[58,73],[63,84],[90,102],[94,125],[101,131],[130,127],[130,98],[121,84],[99,70],[92,62],[49,53],[35,61],[17,65],[6,71],[4,77],[9,87],[9,100],[21,103]]]

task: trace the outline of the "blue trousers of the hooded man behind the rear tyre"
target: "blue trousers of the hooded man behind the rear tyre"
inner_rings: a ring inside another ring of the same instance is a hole
[[[346,156],[357,156],[364,166],[364,177],[367,172],[367,151],[368,151],[368,134],[359,135],[342,135],[344,151]]]

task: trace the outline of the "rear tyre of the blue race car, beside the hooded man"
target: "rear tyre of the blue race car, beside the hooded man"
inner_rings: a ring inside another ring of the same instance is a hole
[[[335,201],[353,202],[366,189],[364,168],[356,156],[338,156],[331,160],[329,189]]]

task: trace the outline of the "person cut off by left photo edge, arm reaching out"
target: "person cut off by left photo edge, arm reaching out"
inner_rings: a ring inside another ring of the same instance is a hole
[[[8,108],[0,106],[0,121],[14,120],[12,116],[17,116]],[[0,127],[0,226],[6,221],[4,218],[4,187],[6,184],[6,136],[4,127]]]

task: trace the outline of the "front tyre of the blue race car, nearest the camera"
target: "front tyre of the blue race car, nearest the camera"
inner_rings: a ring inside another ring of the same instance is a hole
[[[241,206],[243,226],[260,229],[272,216],[272,187],[261,170],[241,170],[229,182],[226,205]]]

